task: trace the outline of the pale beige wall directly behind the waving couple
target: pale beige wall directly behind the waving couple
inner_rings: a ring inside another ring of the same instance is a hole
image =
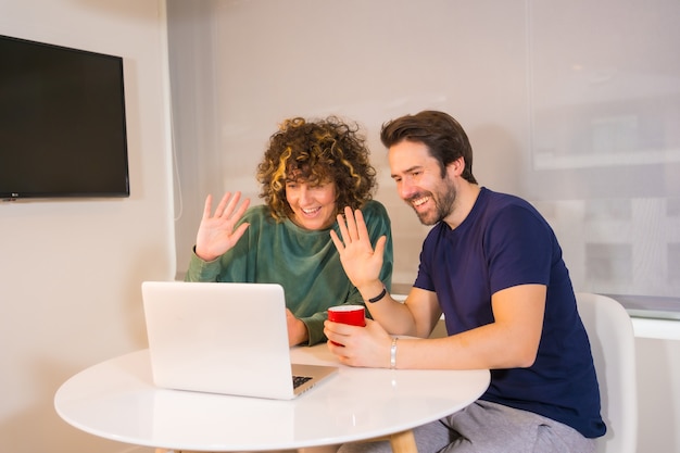
[[[480,184],[551,222],[579,290],[680,293],[677,0],[168,4],[179,270],[209,191],[260,202],[255,166],[281,119],[340,114],[368,135],[394,281],[411,284],[428,229],[398,199],[378,134],[439,109],[466,128]]]

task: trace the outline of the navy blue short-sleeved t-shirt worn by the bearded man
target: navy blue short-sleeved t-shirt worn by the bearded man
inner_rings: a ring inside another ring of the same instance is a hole
[[[530,411],[584,437],[606,431],[590,342],[553,229],[528,202],[482,188],[455,229],[437,224],[423,244],[415,287],[436,291],[449,335],[493,323],[491,295],[517,285],[547,287],[534,364],[493,369],[482,400]]]

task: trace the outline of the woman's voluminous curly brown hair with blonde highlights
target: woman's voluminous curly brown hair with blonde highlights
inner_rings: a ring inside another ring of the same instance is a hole
[[[368,154],[366,138],[356,125],[348,125],[337,116],[319,121],[288,118],[269,137],[257,165],[260,198],[280,222],[292,214],[286,200],[287,181],[333,181],[338,213],[344,206],[360,209],[373,198],[376,188],[376,169]]]

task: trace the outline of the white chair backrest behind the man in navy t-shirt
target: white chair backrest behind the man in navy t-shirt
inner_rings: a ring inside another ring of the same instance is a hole
[[[607,433],[597,439],[599,453],[634,453],[638,443],[638,386],[632,322],[612,298],[576,294],[579,314],[590,338],[600,382],[602,416]]]

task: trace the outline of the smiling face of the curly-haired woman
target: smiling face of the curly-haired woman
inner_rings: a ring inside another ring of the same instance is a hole
[[[322,230],[336,222],[336,184],[324,181],[310,184],[303,179],[286,183],[286,200],[290,205],[292,223],[301,228]]]

